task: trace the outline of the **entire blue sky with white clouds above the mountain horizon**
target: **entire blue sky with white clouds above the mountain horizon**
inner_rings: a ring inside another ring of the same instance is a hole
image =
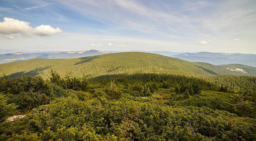
[[[256,54],[256,0],[0,0],[0,49]]]

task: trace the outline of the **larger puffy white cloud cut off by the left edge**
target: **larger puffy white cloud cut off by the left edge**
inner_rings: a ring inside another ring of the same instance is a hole
[[[3,35],[10,35],[13,33],[20,33],[22,35],[30,35],[33,28],[29,26],[29,22],[20,21],[17,19],[4,17],[4,21],[0,22],[0,33]]]

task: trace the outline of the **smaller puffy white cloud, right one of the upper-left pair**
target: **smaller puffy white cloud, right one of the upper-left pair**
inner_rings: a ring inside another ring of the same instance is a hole
[[[60,28],[54,29],[52,26],[49,25],[40,25],[34,28],[34,34],[39,36],[52,36],[54,33],[61,33],[62,30]]]

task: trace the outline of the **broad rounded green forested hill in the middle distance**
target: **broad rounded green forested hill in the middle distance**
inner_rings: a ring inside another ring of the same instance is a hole
[[[122,52],[89,56],[76,59],[30,59],[0,64],[0,76],[16,78],[22,75],[48,78],[54,69],[62,77],[69,74],[74,77],[93,78],[106,74],[175,74],[186,76],[241,75],[256,76],[253,67],[227,69],[208,63],[195,63],[168,56],[142,52]]]

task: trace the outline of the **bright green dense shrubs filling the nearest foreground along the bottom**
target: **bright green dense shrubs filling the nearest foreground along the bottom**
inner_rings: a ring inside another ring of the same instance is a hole
[[[1,138],[29,135],[39,140],[66,141],[256,139],[255,119],[207,107],[179,108],[130,98],[109,101],[99,97],[86,102],[59,98],[33,109],[15,123],[2,124]],[[16,128],[11,130],[13,127]]]

